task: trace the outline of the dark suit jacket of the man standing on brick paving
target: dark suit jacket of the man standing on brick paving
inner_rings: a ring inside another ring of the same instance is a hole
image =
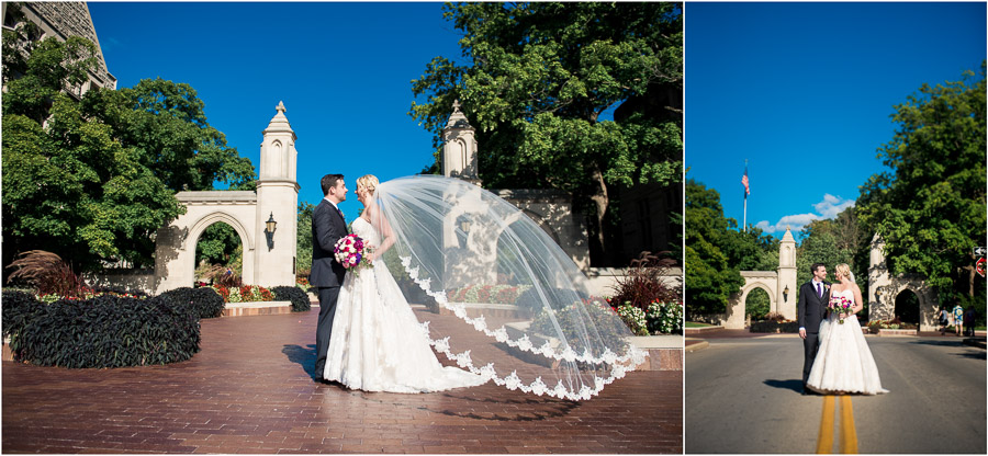
[[[343,285],[347,270],[336,261],[333,249],[347,236],[347,221],[336,207],[325,198],[312,212],[312,272],[310,286],[330,287]]]

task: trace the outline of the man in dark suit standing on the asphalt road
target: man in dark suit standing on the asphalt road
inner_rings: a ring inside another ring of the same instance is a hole
[[[796,304],[796,320],[799,322],[799,337],[802,338],[806,356],[802,362],[804,395],[809,394],[806,380],[809,379],[809,372],[817,357],[819,343],[817,335],[820,331],[820,322],[823,321],[823,314],[827,312],[827,301],[830,300],[830,283],[824,281],[827,266],[823,263],[813,263],[810,272],[813,274],[813,278],[799,287],[799,300]]]

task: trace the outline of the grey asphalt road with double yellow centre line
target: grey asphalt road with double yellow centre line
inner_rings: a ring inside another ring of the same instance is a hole
[[[685,452],[986,454],[985,350],[866,339],[889,392],[830,399],[800,394],[795,334],[708,339],[686,355]]]

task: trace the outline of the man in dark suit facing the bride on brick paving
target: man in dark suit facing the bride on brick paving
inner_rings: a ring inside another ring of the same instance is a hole
[[[326,174],[319,184],[323,201],[312,212],[312,272],[311,286],[319,294],[319,322],[316,327],[315,380],[325,381],[326,355],[329,350],[329,332],[336,315],[336,299],[343,284],[346,269],[336,261],[336,241],[347,236],[347,220],[339,210],[339,203],[347,200],[347,185],[343,174]]]

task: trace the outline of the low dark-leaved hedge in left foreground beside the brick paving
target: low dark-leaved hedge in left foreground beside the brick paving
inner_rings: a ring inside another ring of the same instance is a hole
[[[8,312],[10,304],[15,310]],[[143,366],[186,361],[199,352],[199,317],[193,306],[175,305],[160,296],[104,295],[34,305],[23,295],[4,293],[3,307],[11,351],[16,360],[35,365]]]

